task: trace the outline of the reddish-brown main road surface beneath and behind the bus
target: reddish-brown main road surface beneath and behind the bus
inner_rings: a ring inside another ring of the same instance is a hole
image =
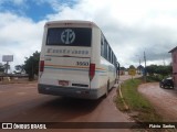
[[[0,85],[0,122],[131,122],[127,114],[116,109],[115,95],[116,88],[113,88],[107,98],[83,100],[39,95],[37,82]],[[50,131],[117,132],[117,129]]]

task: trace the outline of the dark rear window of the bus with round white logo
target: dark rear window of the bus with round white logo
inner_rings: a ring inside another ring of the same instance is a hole
[[[50,28],[46,45],[91,46],[92,30],[90,28]]]

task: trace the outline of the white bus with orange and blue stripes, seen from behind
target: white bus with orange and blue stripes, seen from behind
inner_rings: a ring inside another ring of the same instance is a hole
[[[93,22],[46,22],[38,90],[86,99],[107,96],[116,81],[116,62],[101,29]]]

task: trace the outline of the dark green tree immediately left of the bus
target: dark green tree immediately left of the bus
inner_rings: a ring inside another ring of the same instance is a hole
[[[25,57],[24,70],[29,75],[29,80],[34,79],[34,75],[39,73],[40,53],[35,52],[30,57]]]

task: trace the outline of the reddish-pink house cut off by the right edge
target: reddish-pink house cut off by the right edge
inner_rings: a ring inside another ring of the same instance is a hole
[[[173,58],[173,79],[174,79],[174,85],[175,88],[177,89],[177,46],[169,51],[171,53],[171,58]]]

